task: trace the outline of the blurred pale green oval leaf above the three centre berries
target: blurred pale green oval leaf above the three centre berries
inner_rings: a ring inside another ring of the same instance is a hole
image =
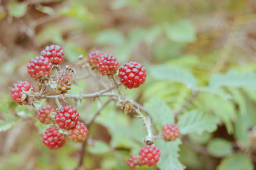
[[[116,29],[106,29],[97,35],[95,42],[99,45],[122,45],[125,43],[125,38]]]

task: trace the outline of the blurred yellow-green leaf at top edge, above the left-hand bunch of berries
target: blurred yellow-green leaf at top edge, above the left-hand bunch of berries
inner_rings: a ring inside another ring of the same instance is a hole
[[[64,7],[60,11],[60,15],[67,17],[76,17],[77,19],[88,20],[88,12],[85,6],[73,2],[71,6]]]

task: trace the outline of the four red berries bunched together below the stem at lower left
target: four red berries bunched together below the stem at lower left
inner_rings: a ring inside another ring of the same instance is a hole
[[[59,128],[67,130],[67,136],[76,143],[85,141],[89,132],[84,123],[79,122],[79,114],[71,105],[61,107],[56,112],[50,105],[44,105],[38,109],[36,118],[45,124],[53,123],[55,118]],[[43,134],[43,143],[50,149],[58,150],[65,142],[65,135],[55,125],[47,128]]]

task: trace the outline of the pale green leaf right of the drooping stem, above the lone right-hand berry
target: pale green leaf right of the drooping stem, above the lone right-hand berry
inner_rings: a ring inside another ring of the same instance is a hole
[[[174,122],[172,110],[159,98],[152,97],[151,104],[145,104],[145,109],[159,127],[163,127],[163,125],[166,125],[167,123]]]

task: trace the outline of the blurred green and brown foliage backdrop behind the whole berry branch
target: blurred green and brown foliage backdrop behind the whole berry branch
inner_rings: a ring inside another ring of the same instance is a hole
[[[18,106],[9,95],[14,82],[31,81],[26,63],[38,55],[38,48],[51,43],[63,47],[68,65],[80,55],[86,58],[92,49],[112,53],[120,65],[131,60],[142,63],[148,74],[145,84],[121,91],[144,104],[159,132],[175,121],[175,112],[193,91],[200,92],[178,118],[184,139],[170,143],[157,139],[161,159],[150,169],[255,169],[255,158],[246,154],[255,153],[248,133],[256,125],[255,9],[253,1],[244,0],[4,1],[0,169],[77,165],[81,144],[67,142],[61,150],[48,150],[40,139],[47,125],[31,118],[36,109]],[[68,93],[97,88],[93,81],[78,81]],[[90,120],[99,103],[78,102],[81,118]],[[111,103],[97,117],[84,169],[129,169],[125,160],[143,146],[143,121],[115,108]],[[33,122],[31,131],[22,128],[28,120]],[[234,150],[234,144],[242,149]]]

